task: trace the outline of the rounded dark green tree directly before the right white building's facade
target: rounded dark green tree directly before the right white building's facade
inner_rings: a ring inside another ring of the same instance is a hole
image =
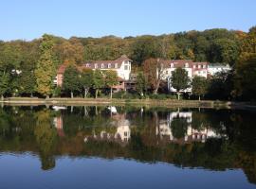
[[[179,99],[180,91],[190,87],[189,83],[190,83],[190,77],[188,76],[188,72],[185,69],[176,68],[172,72],[171,85],[176,90],[178,99]]]

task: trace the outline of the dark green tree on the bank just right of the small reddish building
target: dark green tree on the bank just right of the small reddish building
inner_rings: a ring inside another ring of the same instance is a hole
[[[80,73],[74,65],[69,65],[64,71],[64,90],[69,91],[71,98],[80,89]]]

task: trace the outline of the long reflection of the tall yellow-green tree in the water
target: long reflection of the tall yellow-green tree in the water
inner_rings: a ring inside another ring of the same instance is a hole
[[[36,117],[37,121],[34,134],[37,145],[39,146],[42,169],[47,170],[55,166],[52,153],[56,142],[57,131],[51,126],[49,111],[37,112]]]

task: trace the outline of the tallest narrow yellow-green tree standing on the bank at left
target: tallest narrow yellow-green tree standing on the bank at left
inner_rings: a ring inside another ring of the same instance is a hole
[[[53,56],[52,37],[45,34],[40,44],[40,58],[35,69],[37,92],[46,95],[46,98],[52,94],[53,78],[56,75],[56,66]]]

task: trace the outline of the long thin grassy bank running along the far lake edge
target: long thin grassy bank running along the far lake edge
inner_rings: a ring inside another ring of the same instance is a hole
[[[132,105],[154,107],[186,108],[229,108],[229,102],[211,100],[176,100],[176,99],[109,99],[109,98],[30,98],[9,97],[2,101],[5,105]]]

